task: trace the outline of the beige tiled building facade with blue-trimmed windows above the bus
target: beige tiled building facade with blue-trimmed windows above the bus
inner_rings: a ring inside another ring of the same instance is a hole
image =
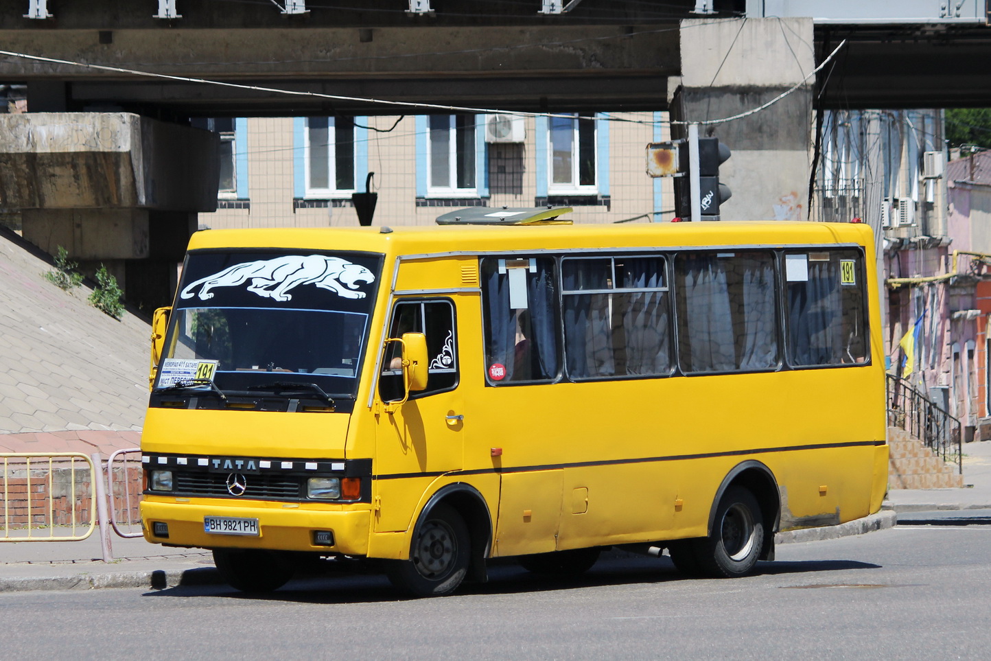
[[[645,172],[666,113],[199,120],[221,136],[218,210],[204,227],[430,225],[452,208],[571,206],[576,222],[670,220],[670,179]]]

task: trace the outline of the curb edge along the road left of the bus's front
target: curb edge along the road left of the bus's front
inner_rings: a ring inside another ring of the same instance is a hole
[[[0,578],[0,593],[33,590],[94,590],[97,588],[138,588],[165,590],[178,586],[203,586],[223,583],[216,569],[177,569],[142,572],[112,572],[76,576],[39,576]]]

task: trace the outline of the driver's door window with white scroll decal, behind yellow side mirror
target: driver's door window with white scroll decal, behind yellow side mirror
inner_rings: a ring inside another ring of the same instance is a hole
[[[427,387],[410,398],[450,390],[458,385],[454,304],[448,299],[401,301],[392,308],[388,337],[423,333],[427,339]],[[383,356],[379,391],[385,401],[402,398],[402,345],[389,342]]]

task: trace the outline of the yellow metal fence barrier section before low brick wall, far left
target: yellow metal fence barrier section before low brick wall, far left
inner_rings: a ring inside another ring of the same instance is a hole
[[[0,542],[80,541],[93,533],[99,458],[67,452],[0,454]]]

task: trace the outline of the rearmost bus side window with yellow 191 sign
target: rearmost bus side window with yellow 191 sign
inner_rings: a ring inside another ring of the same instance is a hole
[[[788,358],[796,367],[867,362],[863,258],[859,251],[785,254]]]

